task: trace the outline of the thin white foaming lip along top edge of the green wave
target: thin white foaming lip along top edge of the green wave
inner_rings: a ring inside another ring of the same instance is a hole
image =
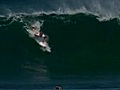
[[[118,20],[120,19],[119,16],[113,16],[109,13],[109,15],[102,15],[102,14],[99,14],[99,13],[95,13],[95,12],[91,12],[91,11],[88,11],[85,7],[81,7],[80,9],[75,9],[75,10],[71,10],[69,8],[66,8],[66,9],[62,9],[62,8],[59,8],[58,10],[56,11],[34,11],[32,13],[26,13],[26,12],[19,12],[19,13],[16,13],[16,12],[12,12],[10,9],[9,9],[9,12],[7,15],[0,15],[0,17],[18,17],[18,16],[21,16],[21,15],[27,15],[27,16],[31,16],[31,15],[35,15],[35,16],[40,16],[41,14],[46,14],[46,15],[50,15],[50,14],[56,14],[56,15],[64,15],[64,14],[68,14],[68,15],[75,15],[75,14],[80,14],[80,13],[83,13],[85,15],[94,15],[97,17],[97,19],[99,21],[109,21],[109,20],[112,20],[114,18],[117,18]]]

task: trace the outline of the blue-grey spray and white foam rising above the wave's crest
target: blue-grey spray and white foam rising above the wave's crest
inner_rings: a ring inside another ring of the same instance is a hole
[[[85,14],[92,14],[98,16],[99,21],[106,21],[111,20],[113,18],[119,18],[120,16],[120,0],[54,0],[53,2],[47,2],[46,0],[43,1],[41,5],[41,0],[37,2],[37,0],[32,1],[36,8],[31,8],[29,6],[26,9],[18,9],[9,8],[10,5],[4,6],[4,11],[7,12],[9,17],[16,16],[16,15],[36,15],[39,16],[40,14],[77,14],[77,13],[85,13]],[[21,2],[23,3],[23,2]],[[24,2],[25,3],[25,2]],[[33,6],[34,6],[33,5]],[[44,9],[42,6],[44,6]],[[16,5],[15,5],[16,6]],[[18,5],[19,6],[19,5]],[[14,10],[15,9],[15,10]]]

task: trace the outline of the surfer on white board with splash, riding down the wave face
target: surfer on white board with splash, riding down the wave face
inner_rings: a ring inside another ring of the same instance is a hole
[[[40,46],[43,51],[51,52],[51,48],[48,45],[48,36],[40,30],[40,24],[36,22],[35,24],[28,26],[26,30],[29,36],[33,38]]]

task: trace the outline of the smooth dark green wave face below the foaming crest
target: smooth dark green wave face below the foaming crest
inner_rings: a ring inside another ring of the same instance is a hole
[[[0,88],[119,88],[119,21],[97,18],[82,13],[0,17]],[[51,53],[24,28],[36,21],[49,36]]]

